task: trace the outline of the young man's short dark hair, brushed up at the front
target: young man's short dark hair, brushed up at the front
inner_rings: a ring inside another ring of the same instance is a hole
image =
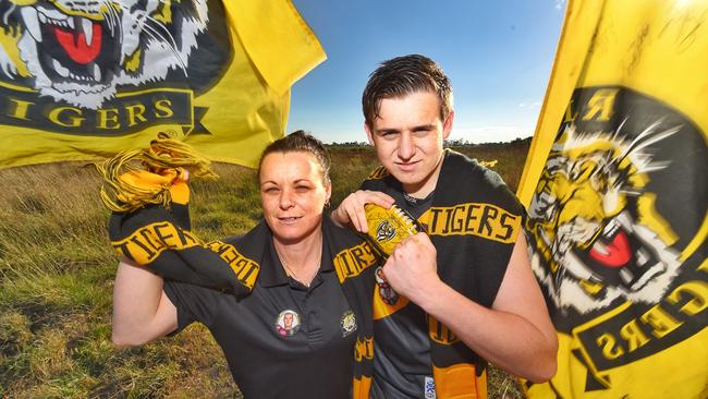
[[[452,85],[440,65],[420,55],[392,58],[381,62],[369,75],[362,95],[362,108],[369,128],[379,117],[381,100],[401,98],[416,92],[430,92],[440,101],[440,120],[452,110]]]

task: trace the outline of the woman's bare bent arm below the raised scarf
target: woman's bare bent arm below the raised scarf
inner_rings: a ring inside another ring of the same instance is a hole
[[[149,342],[178,327],[176,307],[162,278],[123,258],[113,287],[111,340],[119,347]]]

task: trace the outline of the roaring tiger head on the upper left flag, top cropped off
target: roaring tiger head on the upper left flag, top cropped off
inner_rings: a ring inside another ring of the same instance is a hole
[[[0,0],[0,77],[97,109],[120,85],[186,74],[207,11],[206,0]]]

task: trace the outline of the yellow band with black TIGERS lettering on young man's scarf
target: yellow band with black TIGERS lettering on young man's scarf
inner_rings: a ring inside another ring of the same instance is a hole
[[[429,235],[477,235],[502,243],[513,243],[522,217],[486,203],[465,203],[449,207],[430,207],[418,220],[425,220]]]

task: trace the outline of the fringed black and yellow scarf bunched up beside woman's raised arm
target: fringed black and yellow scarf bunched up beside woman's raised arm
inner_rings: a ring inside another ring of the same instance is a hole
[[[121,255],[166,279],[243,297],[258,275],[230,244],[204,242],[191,231],[192,176],[215,176],[186,144],[160,137],[149,148],[121,153],[97,165],[101,200],[112,210],[108,235]],[[185,169],[186,168],[186,169]]]

